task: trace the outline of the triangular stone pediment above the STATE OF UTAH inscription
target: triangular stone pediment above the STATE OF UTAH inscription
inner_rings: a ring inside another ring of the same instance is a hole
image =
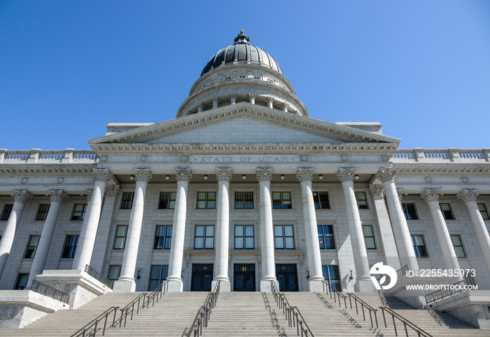
[[[102,144],[396,144],[400,139],[239,103],[92,139]]]

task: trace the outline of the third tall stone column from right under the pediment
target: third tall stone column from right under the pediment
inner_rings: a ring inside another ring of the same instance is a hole
[[[323,291],[323,275],[321,270],[320,243],[318,242],[318,228],[316,226],[315,202],[313,200],[312,168],[298,168],[297,180],[301,183],[301,196],[303,204],[304,236],[307,245],[307,258],[309,268],[308,291]]]

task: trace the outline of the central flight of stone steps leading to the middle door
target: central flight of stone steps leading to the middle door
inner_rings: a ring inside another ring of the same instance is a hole
[[[202,336],[297,336],[271,292],[222,292]]]

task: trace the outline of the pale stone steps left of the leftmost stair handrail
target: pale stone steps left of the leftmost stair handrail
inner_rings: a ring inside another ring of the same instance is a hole
[[[76,333],[78,329],[85,326],[85,324],[95,317],[101,315],[107,309],[112,306],[123,308],[134,298],[137,298],[139,294],[141,293],[109,293],[104,296],[98,296],[76,310],[58,310],[51,312],[22,329],[0,329],[0,336],[71,336],[73,333]]]

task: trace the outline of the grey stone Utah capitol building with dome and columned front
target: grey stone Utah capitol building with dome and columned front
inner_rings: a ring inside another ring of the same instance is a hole
[[[272,55],[233,42],[170,121],[109,123],[90,150],[0,150],[0,305],[41,283],[83,288],[76,308],[110,291],[95,274],[113,292],[366,293],[381,262],[416,308],[432,291],[408,284],[477,289],[430,305],[485,326],[490,149],[398,149],[380,123],[315,119]]]

